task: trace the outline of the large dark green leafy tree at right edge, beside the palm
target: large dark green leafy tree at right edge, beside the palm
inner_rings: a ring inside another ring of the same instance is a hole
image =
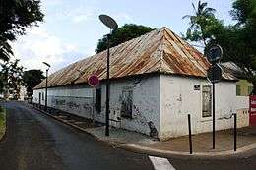
[[[236,0],[232,7],[230,14],[237,23],[225,28],[231,36],[216,41],[224,48],[224,59],[243,70],[256,94],[256,0]]]

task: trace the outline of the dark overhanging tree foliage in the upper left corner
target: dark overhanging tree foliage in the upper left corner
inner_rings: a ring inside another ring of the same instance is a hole
[[[0,59],[8,60],[13,55],[9,41],[25,34],[26,28],[42,22],[40,0],[0,1]]]

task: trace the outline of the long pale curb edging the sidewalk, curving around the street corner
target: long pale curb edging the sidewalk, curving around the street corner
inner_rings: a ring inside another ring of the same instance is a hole
[[[237,150],[234,152],[233,150],[226,150],[226,151],[219,151],[219,152],[194,152],[193,154],[190,154],[189,152],[184,152],[184,151],[168,151],[168,150],[162,150],[158,148],[152,148],[148,146],[142,146],[138,144],[126,144],[126,143],[117,143],[113,141],[107,141],[107,140],[102,140],[96,135],[88,132],[86,129],[81,128],[77,125],[74,125],[72,123],[69,123],[67,121],[63,121],[62,119],[55,117],[43,110],[40,110],[36,107],[33,107],[32,105],[28,104],[31,106],[33,109],[46,114],[47,116],[52,117],[53,119],[60,121],[66,125],[69,125],[77,130],[80,130],[92,137],[94,137],[97,141],[99,142],[104,142],[107,145],[110,145],[114,148],[121,148],[127,151],[131,151],[134,153],[139,153],[139,154],[149,154],[149,155],[155,155],[155,156],[160,156],[160,157],[171,157],[171,158],[181,158],[181,159],[217,159],[217,160],[223,160],[231,157],[236,157],[236,156],[242,156],[242,154],[256,149],[256,143],[246,145],[240,148],[237,148]],[[1,141],[1,140],[0,140]]]

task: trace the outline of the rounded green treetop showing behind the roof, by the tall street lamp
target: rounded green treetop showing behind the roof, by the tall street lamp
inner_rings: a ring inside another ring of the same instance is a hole
[[[123,27],[118,28],[112,32],[110,36],[110,47],[119,45],[120,43],[141,36],[152,30],[152,28],[145,26],[125,24]],[[96,53],[99,53],[105,49],[107,49],[107,35],[104,35],[101,39],[98,40]]]

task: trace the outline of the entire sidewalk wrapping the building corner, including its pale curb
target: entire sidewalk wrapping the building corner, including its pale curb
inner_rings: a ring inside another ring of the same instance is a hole
[[[97,140],[108,142],[115,147],[125,148],[130,151],[160,154],[160,155],[190,155],[188,136],[173,138],[166,142],[160,142],[149,136],[119,128],[110,128],[110,135],[105,136],[105,127],[101,124],[92,124],[89,119],[71,118],[61,113],[43,113],[73,126],[81,131],[96,137]],[[233,132],[223,130],[216,132],[216,148],[212,149],[212,133],[204,133],[192,136],[193,155],[197,156],[226,156],[243,153],[256,148],[256,126],[237,129],[237,151],[233,151]]]

